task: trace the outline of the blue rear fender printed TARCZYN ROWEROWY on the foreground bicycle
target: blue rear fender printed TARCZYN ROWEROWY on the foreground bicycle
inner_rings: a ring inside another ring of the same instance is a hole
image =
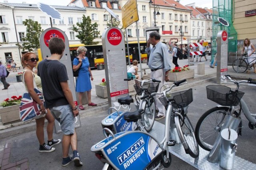
[[[119,170],[145,169],[158,162],[163,149],[145,132],[120,132],[98,142],[91,151],[101,152],[107,162]]]

